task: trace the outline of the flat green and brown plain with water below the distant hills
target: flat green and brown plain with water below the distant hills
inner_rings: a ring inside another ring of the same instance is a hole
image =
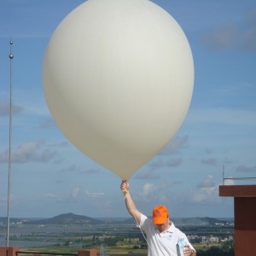
[[[190,242],[201,252],[211,247],[223,247],[224,239],[227,241],[234,235],[234,227],[230,225],[183,225],[179,229],[191,238]],[[3,238],[4,228],[0,227],[0,231],[0,238]],[[77,254],[80,250],[90,249],[101,253],[104,248],[104,253],[108,255],[147,255],[147,242],[134,224],[14,224],[10,234],[11,246],[19,247],[20,251],[34,252],[32,254]],[[202,242],[202,237],[218,237],[219,241]]]

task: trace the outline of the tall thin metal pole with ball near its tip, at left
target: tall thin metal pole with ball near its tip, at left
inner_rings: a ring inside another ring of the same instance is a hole
[[[12,145],[12,60],[14,55],[12,54],[13,41],[9,41],[10,44],[10,83],[9,83],[9,179],[8,179],[8,207],[7,207],[7,238],[6,246],[9,247],[9,212],[10,212],[10,187],[11,187],[11,145]]]

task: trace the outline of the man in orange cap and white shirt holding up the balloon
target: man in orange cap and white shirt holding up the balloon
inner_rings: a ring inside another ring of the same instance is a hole
[[[135,219],[137,226],[146,233],[148,242],[148,256],[195,256],[194,247],[189,243],[187,236],[178,230],[169,220],[166,207],[158,206],[153,209],[153,218],[150,219],[137,210],[129,191],[129,183],[122,181],[120,188],[125,194],[127,211]],[[184,246],[179,247],[183,241]]]

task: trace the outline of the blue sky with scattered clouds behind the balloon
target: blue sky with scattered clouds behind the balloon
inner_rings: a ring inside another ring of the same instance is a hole
[[[256,2],[153,2],[189,39],[195,89],[172,142],[131,177],[131,194],[148,215],[165,204],[171,218],[232,217],[233,198],[218,196],[223,166],[225,177],[256,177]],[[0,216],[7,215],[10,38],[11,217],[129,216],[120,178],[68,142],[44,100],[44,51],[56,26],[81,3],[0,0]]]

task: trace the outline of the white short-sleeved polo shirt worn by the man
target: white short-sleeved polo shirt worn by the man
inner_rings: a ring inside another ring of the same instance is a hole
[[[168,230],[160,233],[156,225],[152,223],[152,219],[142,214],[139,227],[147,236],[148,256],[180,255],[177,254],[177,240],[179,238],[183,238],[189,247],[195,250],[189,243],[187,236],[181,230],[178,230],[173,223]]]

